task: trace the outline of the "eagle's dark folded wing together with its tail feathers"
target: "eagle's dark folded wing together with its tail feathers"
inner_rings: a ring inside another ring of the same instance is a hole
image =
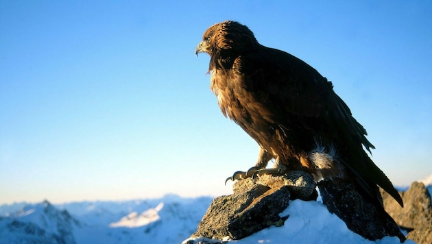
[[[261,46],[258,51],[237,57],[232,73],[237,85],[241,84],[268,110],[269,123],[289,128],[296,140],[311,147],[316,136],[325,143],[335,143],[350,154],[341,162],[361,188],[376,199],[379,184],[402,205],[392,183],[362,148],[374,149],[365,137],[365,129],[334,93],[331,82],[309,64],[284,51]]]

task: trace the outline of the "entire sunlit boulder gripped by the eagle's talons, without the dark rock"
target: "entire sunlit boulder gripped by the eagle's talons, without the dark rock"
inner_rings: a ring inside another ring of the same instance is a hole
[[[223,243],[221,240],[238,240],[272,225],[281,226],[288,216],[279,214],[287,208],[291,196],[315,200],[317,195],[313,178],[303,171],[261,175],[255,182],[250,178],[239,180],[233,191],[213,200],[197,231],[183,243],[200,243],[197,237],[205,237],[201,243]]]

